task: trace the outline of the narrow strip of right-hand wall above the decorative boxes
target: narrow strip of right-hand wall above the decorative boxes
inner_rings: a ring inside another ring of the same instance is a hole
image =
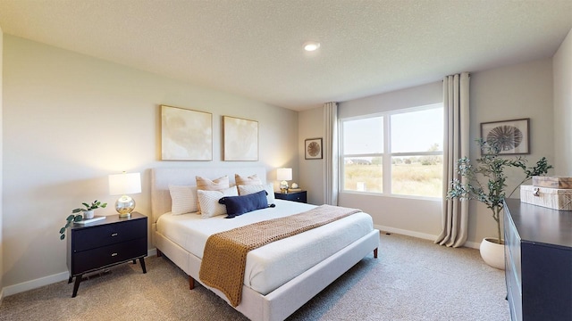
[[[555,173],[572,176],[572,29],[552,58]]]

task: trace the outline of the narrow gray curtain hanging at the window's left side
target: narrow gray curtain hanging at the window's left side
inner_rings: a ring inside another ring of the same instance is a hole
[[[324,103],[324,203],[338,205],[338,103]]]

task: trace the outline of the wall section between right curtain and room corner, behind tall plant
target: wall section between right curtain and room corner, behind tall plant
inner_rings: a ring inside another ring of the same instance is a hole
[[[531,153],[525,155],[529,165],[534,165],[543,156],[555,163],[550,58],[472,73],[470,86],[472,142],[481,136],[482,122],[529,118]],[[471,159],[479,155],[478,146],[473,144]],[[507,173],[509,190],[517,185],[517,180],[521,180],[522,171]],[[519,193],[512,197],[519,198]],[[469,242],[480,243],[484,237],[494,235],[496,230],[491,210],[479,202],[471,202],[469,206],[468,225]]]

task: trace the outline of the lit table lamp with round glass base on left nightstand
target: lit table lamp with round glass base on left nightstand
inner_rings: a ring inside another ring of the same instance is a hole
[[[141,193],[141,175],[139,173],[112,174],[109,176],[109,194],[122,195],[115,202],[115,210],[120,218],[129,218],[135,209],[135,201],[127,194]]]

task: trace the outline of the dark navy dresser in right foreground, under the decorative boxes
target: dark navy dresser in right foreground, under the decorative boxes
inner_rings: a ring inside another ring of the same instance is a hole
[[[504,237],[510,318],[572,320],[572,211],[507,199]]]

